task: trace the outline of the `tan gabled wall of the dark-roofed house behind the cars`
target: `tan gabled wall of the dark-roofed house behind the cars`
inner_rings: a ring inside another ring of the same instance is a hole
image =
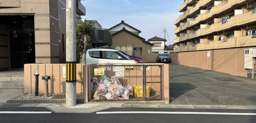
[[[133,45],[132,45],[133,44]],[[136,37],[126,31],[122,31],[112,37],[112,48],[115,47],[127,47],[127,45],[132,45],[133,47],[142,47],[142,53],[147,53],[148,50],[151,51],[152,46],[150,44],[146,44],[142,42],[142,39]]]

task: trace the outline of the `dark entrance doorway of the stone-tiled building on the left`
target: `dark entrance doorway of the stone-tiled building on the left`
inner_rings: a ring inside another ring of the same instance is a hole
[[[12,15],[0,16],[0,18],[5,18],[0,20],[0,25],[4,27],[0,32],[6,33],[6,39],[8,39],[0,41],[8,45],[6,46],[8,49],[5,49],[7,50],[5,53],[8,53],[6,55],[8,66],[5,67],[9,70],[22,70],[24,64],[35,63],[34,16]]]

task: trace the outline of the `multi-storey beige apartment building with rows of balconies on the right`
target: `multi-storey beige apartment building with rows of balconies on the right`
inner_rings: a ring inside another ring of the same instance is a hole
[[[255,0],[184,0],[174,52],[256,46]]]

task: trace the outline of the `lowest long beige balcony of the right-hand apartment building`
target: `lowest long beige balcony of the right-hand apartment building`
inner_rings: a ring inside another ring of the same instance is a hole
[[[200,44],[188,45],[174,48],[174,52],[186,52],[197,50],[209,50],[209,49],[223,49],[223,48],[235,48],[235,47],[254,47],[256,46],[256,38],[249,36],[239,36],[234,38],[225,39],[226,42],[221,40],[215,40],[210,42],[203,42]]]

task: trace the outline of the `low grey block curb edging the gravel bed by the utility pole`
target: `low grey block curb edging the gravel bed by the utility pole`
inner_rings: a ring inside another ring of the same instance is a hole
[[[21,95],[25,94],[27,93]],[[6,103],[66,103],[66,99],[15,99],[21,95],[6,100]],[[81,103],[84,103],[84,99],[77,99],[77,104]]]

